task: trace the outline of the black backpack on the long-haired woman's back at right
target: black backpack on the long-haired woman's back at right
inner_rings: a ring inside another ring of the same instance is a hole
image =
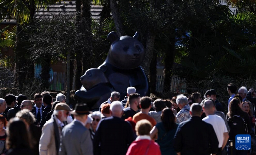
[[[241,116],[234,115],[229,117],[228,126],[230,127],[229,137],[232,140],[235,140],[236,135],[243,135],[248,133],[247,124]]]

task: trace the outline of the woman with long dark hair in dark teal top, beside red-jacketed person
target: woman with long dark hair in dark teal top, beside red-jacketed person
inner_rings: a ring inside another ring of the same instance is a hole
[[[157,138],[162,155],[176,155],[173,138],[178,124],[176,124],[175,119],[173,111],[165,108],[161,113],[162,122],[157,123],[150,131],[150,137],[152,139]]]

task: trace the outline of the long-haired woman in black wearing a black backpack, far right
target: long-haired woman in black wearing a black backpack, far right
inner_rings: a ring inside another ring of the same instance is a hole
[[[251,121],[249,115],[242,111],[240,99],[233,98],[229,103],[229,112],[227,113],[227,121],[230,127],[229,139],[235,141],[238,134],[249,134],[251,132]],[[228,149],[230,153],[230,150]],[[236,150],[233,148],[233,154],[246,155],[247,150]]]

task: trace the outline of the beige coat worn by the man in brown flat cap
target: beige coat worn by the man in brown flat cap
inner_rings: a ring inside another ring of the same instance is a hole
[[[57,121],[56,117],[51,117],[42,128],[42,135],[39,141],[39,152],[40,155],[56,155],[56,146],[55,146],[55,138],[54,138],[54,126],[53,119]],[[62,127],[57,123],[59,127],[59,135],[61,135]],[[60,137],[60,136],[59,136]],[[57,150],[59,152],[59,150]]]

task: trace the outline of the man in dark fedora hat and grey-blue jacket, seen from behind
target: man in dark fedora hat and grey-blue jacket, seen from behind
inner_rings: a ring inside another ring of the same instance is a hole
[[[75,119],[62,130],[59,155],[93,155],[90,131],[85,127],[88,114],[92,112],[84,103],[77,104],[71,113]]]

